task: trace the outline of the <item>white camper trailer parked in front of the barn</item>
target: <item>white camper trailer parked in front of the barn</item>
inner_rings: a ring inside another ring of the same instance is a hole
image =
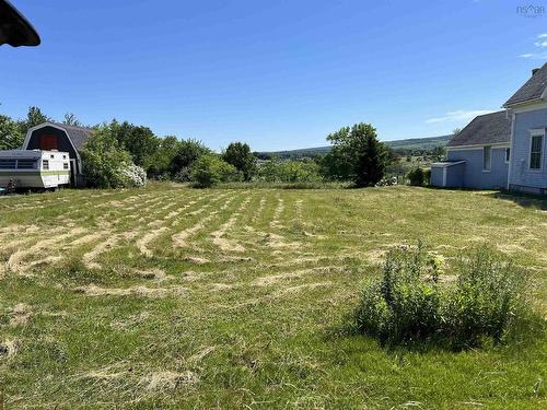
[[[70,185],[68,152],[42,150],[0,151],[0,188],[57,189]]]

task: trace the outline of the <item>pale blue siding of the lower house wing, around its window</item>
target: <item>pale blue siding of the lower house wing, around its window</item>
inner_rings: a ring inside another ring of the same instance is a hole
[[[505,163],[505,148],[491,149],[490,171],[482,171],[482,147],[468,150],[450,150],[449,161],[465,161],[463,186],[475,189],[504,189],[508,184],[509,164]],[[449,179],[449,178],[447,178]],[[449,185],[449,180],[446,180]]]

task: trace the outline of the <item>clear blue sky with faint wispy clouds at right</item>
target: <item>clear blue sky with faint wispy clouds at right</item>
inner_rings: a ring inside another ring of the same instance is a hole
[[[547,11],[520,1],[12,0],[37,48],[0,48],[0,113],[116,117],[213,149],[450,133],[547,61]],[[547,1],[533,1],[547,10]]]

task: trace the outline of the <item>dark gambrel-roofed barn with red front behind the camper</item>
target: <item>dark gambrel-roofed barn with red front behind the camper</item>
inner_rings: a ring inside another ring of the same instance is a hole
[[[74,187],[85,186],[80,151],[93,134],[90,128],[44,122],[28,129],[23,150],[57,150],[70,154],[70,183]]]

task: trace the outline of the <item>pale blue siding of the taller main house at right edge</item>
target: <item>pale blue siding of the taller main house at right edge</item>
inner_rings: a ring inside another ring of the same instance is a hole
[[[547,108],[515,113],[511,141],[511,189],[542,192],[547,189],[547,137],[544,137],[542,169],[529,169],[531,130],[547,128]]]

